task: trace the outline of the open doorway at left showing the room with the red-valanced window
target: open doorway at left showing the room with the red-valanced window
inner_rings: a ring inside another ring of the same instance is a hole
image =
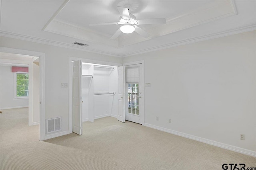
[[[38,128],[40,119],[40,60],[31,55],[0,52],[1,117],[9,129]],[[15,122],[15,123],[14,123]],[[29,128],[28,126],[35,126]],[[35,131],[33,132],[34,134]],[[36,137],[38,137],[36,135]]]

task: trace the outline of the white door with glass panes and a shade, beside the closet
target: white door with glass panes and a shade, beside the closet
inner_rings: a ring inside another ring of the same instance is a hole
[[[125,66],[125,119],[142,124],[142,64]]]

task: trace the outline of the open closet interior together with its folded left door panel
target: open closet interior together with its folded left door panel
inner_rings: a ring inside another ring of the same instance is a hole
[[[94,119],[102,117],[117,117],[117,67],[72,61],[72,131],[74,133],[82,135],[82,123],[85,121],[94,122]]]

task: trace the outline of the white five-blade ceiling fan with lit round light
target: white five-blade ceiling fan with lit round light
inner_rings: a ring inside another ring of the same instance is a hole
[[[138,25],[145,24],[162,24],[166,23],[165,18],[155,18],[155,19],[144,19],[144,20],[136,20],[136,17],[132,14],[129,14],[129,9],[125,7],[118,6],[117,7],[120,18],[119,22],[109,22],[109,23],[90,23],[90,26],[97,25],[120,25],[120,28],[114,33],[111,39],[116,39],[121,33],[132,33],[136,32],[140,34],[142,37],[147,38],[150,36],[146,31],[138,27]]]

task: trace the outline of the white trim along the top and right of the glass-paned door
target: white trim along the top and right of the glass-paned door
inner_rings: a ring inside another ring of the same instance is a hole
[[[144,99],[144,92],[145,92],[145,86],[144,86],[144,60],[142,61],[134,61],[134,62],[130,62],[130,63],[123,63],[123,66],[129,66],[129,65],[134,65],[134,64],[141,64],[142,65],[142,125],[144,126],[145,123],[145,113],[144,113],[144,107],[145,107],[145,99]]]

